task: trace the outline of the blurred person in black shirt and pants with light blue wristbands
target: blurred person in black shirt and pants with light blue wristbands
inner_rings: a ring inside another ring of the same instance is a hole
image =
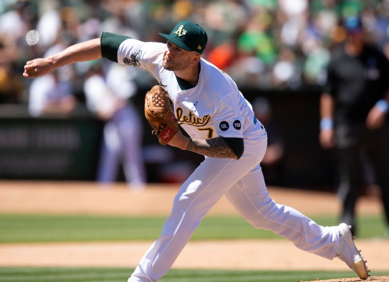
[[[324,149],[336,146],[341,222],[355,233],[362,150],[371,158],[389,222],[389,61],[367,44],[360,18],[346,18],[344,27],[347,38],[332,53],[320,97],[319,141]]]

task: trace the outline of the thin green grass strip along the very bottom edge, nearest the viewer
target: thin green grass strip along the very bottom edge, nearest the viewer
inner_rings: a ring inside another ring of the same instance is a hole
[[[124,282],[129,268],[0,267],[0,282]],[[388,275],[375,272],[372,275]],[[160,282],[296,282],[355,277],[351,271],[171,269]]]

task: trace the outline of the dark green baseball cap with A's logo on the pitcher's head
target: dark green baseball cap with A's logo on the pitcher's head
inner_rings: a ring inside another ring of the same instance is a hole
[[[186,51],[200,54],[203,53],[208,40],[207,33],[201,26],[187,20],[178,22],[170,35],[163,33],[159,35]]]

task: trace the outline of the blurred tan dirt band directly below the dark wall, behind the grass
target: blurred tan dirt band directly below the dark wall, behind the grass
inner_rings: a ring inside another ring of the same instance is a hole
[[[125,184],[99,186],[84,182],[0,181],[0,212],[53,214],[168,215],[179,185],[149,185],[142,191]],[[333,193],[270,187],[269,194],[279,204],[304,214],[336,215],[340,205]],[[378,214],[381,205],[374,198],[362,198],[357,212]],[[209,212],[238,215],[226,197]]]

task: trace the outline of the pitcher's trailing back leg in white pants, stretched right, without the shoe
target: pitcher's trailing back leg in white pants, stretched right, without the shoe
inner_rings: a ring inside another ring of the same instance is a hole
[[[258,229],[271,230],[296,247],[333,259],[339,245],[336,227],[322,227],[301,212],[279,205],[269,196],[261,167],[258,166],[226,193],[242,216]]]

